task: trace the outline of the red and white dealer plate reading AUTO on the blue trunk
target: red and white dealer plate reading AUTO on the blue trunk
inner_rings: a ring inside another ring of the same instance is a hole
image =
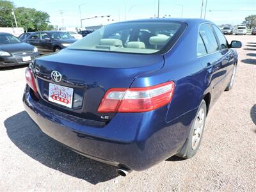
[[[73,88],[49,83],[48,100],[72,108],[73,92]]]

